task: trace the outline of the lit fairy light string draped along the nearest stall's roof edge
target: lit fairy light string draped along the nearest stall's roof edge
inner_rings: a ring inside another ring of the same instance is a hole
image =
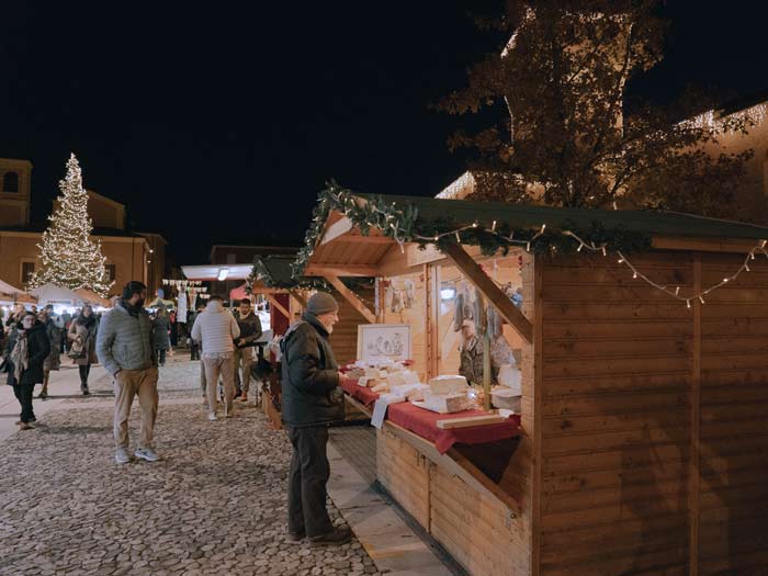
[[[336,200],[340,202],[340,197],[337,197]],[[393,205],[394,205],[394,203],[393,203]],[[387,222],[394,219],[394,216],[392,216],[392,214],[385,213],[384,211],[377,208],[376,206],[372,206],[372,208],[374,212],[377,212],[379,214],[382,214],[383,216],[385,216]],[[350,215],[350,211],[345,210],[345,216],[349,216],[349,215]],[[372,223],[372,222],[366,222],[366,224],[370,227],[374,226],[374,223]],[[388,224],[393,230],[393,238],[400,247],[400,251],[404,251],[405,242],[406,242],[406,240],[404,239],[404,236],[407,236],[407,230],[398,228],[397,225],[393,222],[388,222]],[[544,231],[546,230],[546,224],[542,224],[541,228],[531,237],[530,240],[521,240],[521,239],[516,239],[513,237],[515,233],[510,234],[509,236],[506,236],[506,235],[499,233],[497,230],[497,224],[498,224],[497,221],[493,221],[490,227],[485,227],[485,226],[481,226],[479,223],[477,221],[475,221],[472,224],[460,226],[460,227],[452,229],[452,230],[445,230],[445,231],[436,234],[433,236],[422,236],[419,234],[414,234],[413,238],[415,240],[437,242],[442,238],[453,236],[453,237],[455,237],[456,241],[459,244],[461,244],[462,242],[461,233],[466,231],[468,229],[474,229],[474,230],[481,229],[487,234],[495,235],[496,237],[502,239],[504,241],[506,241],[508,244],[524,246],[526,250],[530,252],[531,251],[531,242],[533,240],[535,240],[537,238],[539,238],[541,235],[543,235]],[[592,241],[586,241],[583,238],[580,238],[576,233],[574,233],[572,230],[567,230],[567,229],[562,229],[558,231],[561,234],[563,234],[564,236],[569,236],[571,238],[573,238],[574,240],[576,240],[578,242],[578,247],[576,248],[577,252],[580,252],[581,250],[587,249],[588,251],[591,251],[591,252],[602,253],[603,257],[608,256],[608,245],[605,242],[596,244]],[[675,289],[671,289],[668,284],[659,284],[658,282],[653,281],[646,274],[641,272],[637,269],[637,267],[635,267],[621,250],[615,250],[614,253],[619,257],[618,262],[620,264],[626,266],[630,269],[630,271],[632,272],[633,279],[643,280],[646,284],[655,287],[656,290],[660,290],[662,292],[671,296],[673,298],[675,298],[679,302],[685,302],[686,306],[688,308],[690,308],[691,302],[699,301],[701,304],[705,304],[707,301],[704,300],[704,296],[710,294],[712,291],[714,291],[719,287],[722,287],[727,283],[735,281],[743,272],[749,272],[750,271],[749,261],[755,260],[756,253],[758,253],[758,252],[763,253],[766,256],[766,258],[768,258],[768,250],[766,249],[767,244],[768,244],[768,240],[759,240],[759,242],[754,248],[752,248],[749,250],[749,252],[747,252],[746,257],[744,258],[744,263],[733,274],[724,276],[721,282],[712,284],[712,285],[708,286],[707,289],[704,289],[698,293],[694,293],[694,294],[680,294],[680,286],[679,285],[676,285]]]

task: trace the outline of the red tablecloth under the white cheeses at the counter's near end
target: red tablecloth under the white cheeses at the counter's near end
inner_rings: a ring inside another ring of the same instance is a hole
[[[360,387],[360,386],[358,386]],[[438,428],[438,420],[463,418],[466,416],[483,416],[482,410],[464,410],[454,414],[438,414],[414,406],[409,402],[392,404],[387,411],[387,419],[392,423],[410,430],[417,436],[434,443],[438,452],[444,454],[455,443],[485,444],[497,440],[506,440],[518,436],[520,431],[520,416],[512,415],[507,421],[486,426],[472,426],[470,428],[454,428],[442,430]]]

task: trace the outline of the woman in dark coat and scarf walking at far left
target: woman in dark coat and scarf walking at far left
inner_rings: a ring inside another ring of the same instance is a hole
[[[43,383],[43,363],[50,352],[50,341],[45,334],[45,325],[27,312],[22,318],[22,325],[14,337],[11,351],[11,372],[9,384],[13,385],[13,394],[21,405],[19,421],[20,430],[30,430],[35,422],[32,408],[32,394],[35,384]]]

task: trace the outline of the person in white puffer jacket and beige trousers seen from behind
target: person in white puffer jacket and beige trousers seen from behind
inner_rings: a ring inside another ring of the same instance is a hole
[[[211,296],[205,310],[197,315],[192,327],[192,338],[203,347],[201,358],[205,370],[205,394],[208,420],[217,420],[216,386],[221,374],[224,382],[224,417],[233,416],[235,398],[234,340],[240,336],[235,317],[224,309],[221,296]]]

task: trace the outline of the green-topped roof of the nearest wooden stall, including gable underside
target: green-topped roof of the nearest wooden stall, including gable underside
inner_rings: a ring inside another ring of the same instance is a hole
[[[622,230],[647,237],[654,248],[680,250],[742,251],[746,244],[754,246],[757,240],[768,239],[768,227],[680,213],[557,208],[360,193],[351,193],[351,197],[358,203],[383,202],[396,210],[415,210],[417,225],[449,222],[453,228],[459,228],[477,223],[490,228],[496,221],[498,226],[504,224],[518,230],[538,230],[543,224],[547,229],[561,230],[588,230],[599,225],[608,231]],[[307,275],[323,275],[324,264],[343,267],[343,275],[377,275],[377,267],[385,257],[400,251],[389,230],[374,227],[366,236],[362,235],[359,226],[364,223],[346,217],[338,205],[331,205],[327,214],[320,215],[320,222],[321,227],[307,234],[307,245],[297,257],[298,270]],[[463,244],[471,246],[472,240]]]

